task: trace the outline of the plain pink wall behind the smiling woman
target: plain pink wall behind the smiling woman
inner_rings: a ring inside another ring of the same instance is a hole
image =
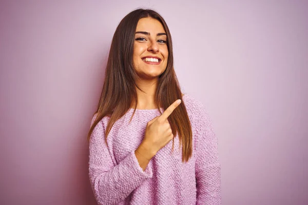
[[[0,204],[95,204],[86,134],[113,32],[140,6],[213,119],[223,204],[308,204],[307,2],[27,2],[0,3]]]

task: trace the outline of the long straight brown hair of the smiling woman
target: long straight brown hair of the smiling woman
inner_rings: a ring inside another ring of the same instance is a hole
[[[133,46],[134,35],[140,18],[151,17],[159,20],[167,34],[168,63],[166,70],[159,76],[158,86],[155,95],[155,103],[158,108],[166,110],[177,99],[182,99],[182,93],[174,70],[174,58],[172,51],[172,40],[168,26],[163,17],[156,11],[150,9],[137,9],[127,14],[114,32],[109,51],[105,81],[99,101],[97,114],[88,133],[90,140],[91,133],[95,126],[104,116],[109,116],[105,133],[105,143],[115,121],[120,119],[135,101],[134,112],[138,102],[136,88],[144,92],[136,84],[139,76],[133,67]],[[134,114],[133,112],[133,114]],[[162,112],[159,109],[159,112]],[[131,120],[131,119],[130,119]],[[189,117],[184,101],[168,117],[172,134],[179,134],[180,147],[182,146],[182,162],[188,161],[192,155],[192,131]],[[172,151],[174,150],[174,139],[172,139]]]

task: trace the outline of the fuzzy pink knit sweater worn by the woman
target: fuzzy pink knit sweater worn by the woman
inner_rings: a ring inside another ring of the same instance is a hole
[[[145,171],[134,151],[141,144],[148,121],[158,109],[130,109],[113,125],[104,142],[109,117],[94,128],[89,144],[89,178],[99,204],[221,204],[217,137],[203,104],[185,94],[183,101],[192,127],[192,157],[182,163],[179,138],[150,160]],[[161,111],[164,110],[161,108]],[[94,115],[93,120],[96,115]]]

